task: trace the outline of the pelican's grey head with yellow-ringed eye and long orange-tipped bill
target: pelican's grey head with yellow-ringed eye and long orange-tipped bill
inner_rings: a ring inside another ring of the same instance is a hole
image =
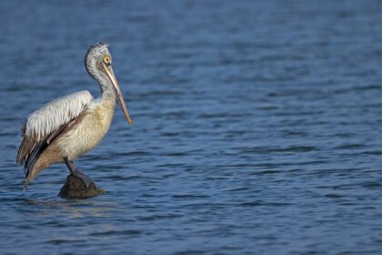
[[[85,68],[87,73],[97,81],[106,80],[106,84],[113,86],[116,98],[124,111],[128,124],[131,125],[131,119],[128,115],[127,107],[121,89],[119,88],[116,76],[114,75],[112,57],[106,44],[98,43],[90,46],[85,56]]]

